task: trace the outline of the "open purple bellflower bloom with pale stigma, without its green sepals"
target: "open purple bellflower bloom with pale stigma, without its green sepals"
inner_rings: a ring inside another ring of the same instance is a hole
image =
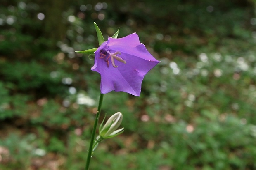
[[[114,90],[140,96],[145,74],[158,63],[133,33],[123,38],[109,37],[102,43],[95,51],[91,70],[101,75],[101,93]]]

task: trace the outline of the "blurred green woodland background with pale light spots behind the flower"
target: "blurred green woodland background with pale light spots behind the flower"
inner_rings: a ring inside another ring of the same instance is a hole
[[[255,170],[253,0],[1,0],[0,169],[82,170],[100,93],[93,22],[160,60],[140,97],[110,92],[125,132],[92,170]]]

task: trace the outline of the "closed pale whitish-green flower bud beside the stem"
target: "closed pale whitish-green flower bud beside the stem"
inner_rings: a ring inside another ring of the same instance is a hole
[[[105,119],[105,118],[104,118]],[[100,125],[100,136],[102,138],[112,138],[123,133],[123,128],[116,130],[122,123],[123,115],[121,112],[117,112],[107,120],[106,124],[102,127]]]

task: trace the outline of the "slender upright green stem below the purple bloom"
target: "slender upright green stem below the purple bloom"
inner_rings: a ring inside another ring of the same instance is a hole
[[[91,141],[90,141],[90,147],[89,147],[89,150],[88,150],[88,156],[87,156],[87,160],[86,160],[85,170],[89,169],[90,159],[92,157],[92,146],[93,146],[93,143],[94,143],[97,124],[99,122],[100,110],[101,110],[101,106],[102,106],[103,96],[104,96],[104,94],[101,93],[100,94],[99,105],[98,105],[98,110],[97,110],[97,114],[96,114],[96,117],[95,117],[94,126],[93,126],[93,129],[92,129],[92,136],[91,136]]]

